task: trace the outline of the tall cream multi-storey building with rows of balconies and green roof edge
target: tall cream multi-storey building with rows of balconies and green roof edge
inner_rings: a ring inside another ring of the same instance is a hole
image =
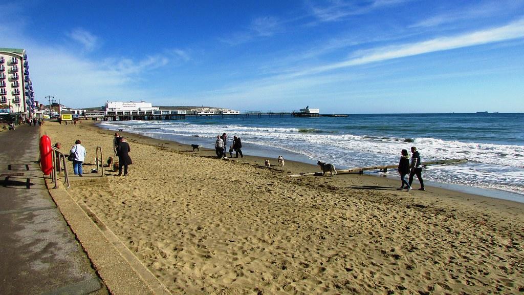
[[[25,119],[34,117],[35,112],[26,51],[0,48],[0,115],[13,114]]]

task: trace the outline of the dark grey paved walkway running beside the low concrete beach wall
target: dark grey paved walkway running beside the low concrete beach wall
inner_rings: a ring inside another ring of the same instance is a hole
[[[106,294],[45,186],[39,130],[0,132],[0,294]]]

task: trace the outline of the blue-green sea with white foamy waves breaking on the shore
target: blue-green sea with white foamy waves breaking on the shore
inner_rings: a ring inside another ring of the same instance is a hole
[[[428,185],[524,203],[524,113],[214,115],[104,121],[100,127],[211,149],[216,135],[225,132],[227,145],[233,135],[242,139],[244,155],[275,163],[283,155],[304,163],[333,163],[338,169],[398,164],[401,150],[416,146],[423,162],[468,159],[425,167],[422,176]],[[396,170],[368,173],[398,177]]]

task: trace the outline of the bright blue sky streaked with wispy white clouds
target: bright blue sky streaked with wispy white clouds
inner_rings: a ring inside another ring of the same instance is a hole
[[[26,49],[46,104],[524,112],[524,0],[4,0],[0,11],[0,47]]]

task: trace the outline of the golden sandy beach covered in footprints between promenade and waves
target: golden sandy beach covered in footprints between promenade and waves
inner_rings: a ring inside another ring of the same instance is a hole
[[[84,173],[97,146],[104,162],[113,156],[114,132],[93,121],[42,125],[65,151],[82,141]],[[278,155],[267,155],[268,168],[263,157],[215,159],[122,134],[129,175],[106,167],[68,191],[173,294],[524,293],[522,203],[400,192],[391,177],[290,177],[319,167],[276,167]]]

